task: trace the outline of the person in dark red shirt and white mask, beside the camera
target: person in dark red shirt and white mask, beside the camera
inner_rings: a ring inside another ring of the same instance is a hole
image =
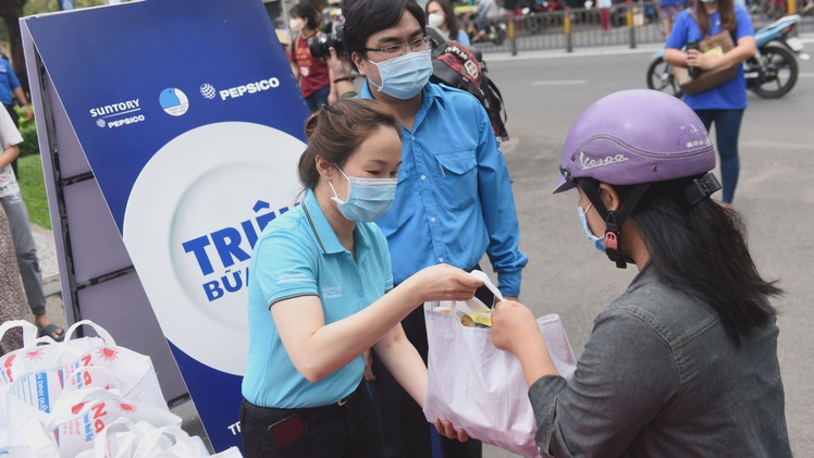
[[[288,28],[295,37],[288,48],[288,62],[308,109],[314,112],[328,103],[331,94],[331,72],[325,60],[314,59],[308,49],[308,39],[319,34],[320,13],[310,4],[298,3],[292,8],[289,15]]]

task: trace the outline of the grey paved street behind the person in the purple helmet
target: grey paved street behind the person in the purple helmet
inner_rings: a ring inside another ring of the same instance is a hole
[[[812,40],[806,48],[814,51]],[[490,75],[508,107],[513,139],[506,159],[520,212],[521,246],[530,258],[521,300],[538,315],[558,313],[577,355],[593,318],[624,292],[636,270],[617,270],[590,246],[579,226],[575,195],[551,194],[562,145],[591,102],[616,90],[646,87],[645,71],[655,49],[486,55]],[[795,456],[804,457],[814,456],[814,216],[809,211],[814,208],[814,62],[800,65],[801,77],[785,98],[749,95],[735,203],[745,216],[755,262],[786,289],[775,302],[781,312],[778,351],[791,445]],[[484,456],[514,455],[488,447]]]

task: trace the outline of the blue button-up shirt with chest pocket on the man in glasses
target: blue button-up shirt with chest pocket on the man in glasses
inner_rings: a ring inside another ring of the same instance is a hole
[[[489,115],[470,94],[428,84],[412,131],[404,127],[393,208],[377,224],[390,244],[396,284],[430,265],[472,269],[489,255],[498,288],[520,294],[511,181]],[[370,99],[367,82],[359,97]]]

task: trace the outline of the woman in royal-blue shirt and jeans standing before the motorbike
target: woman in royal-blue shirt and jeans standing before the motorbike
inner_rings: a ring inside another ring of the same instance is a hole
[[[736,65],[738,74],[728,82],[704,92],[684,96],[684,102],[704,122],[707,131],[715,124],[720,175],[724,185],[721,203],[731,206],[740,174],[738,137],[743,111],[747,109],[747,78],[741,62],[755,54],[754,27],[749,13],[732,0],[699,0],[699,7],[679,14],[664,49],[664,60],[671,65],[695,66],[702,71]],[[695,42],[721,30],[732,35],[735,48],[723,55],[703,54],[696,49],[682,51]]]

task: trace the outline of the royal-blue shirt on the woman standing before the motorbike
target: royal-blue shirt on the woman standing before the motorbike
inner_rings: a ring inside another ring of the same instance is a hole
[[[695,9],[687,9],[676,18],[670,36],[667,38],[665,48],[682,49],[688,42],[701,41],[704,36],[690,14],[694,14]],[[735,7],[736,28],[732,41],[754,36],[754,27],[749,18],[749,12],[741,7]],[[720,13],[717,11],[710,14],[708,35],[715,35],[720,32]],[[738,74],[728,82],[714,87],[710,90],[695,94],[694,96],[684,96],[684,102],[693,110],[743,110],[747,108],[747,78],[743,75],[743,65],[738,65]]]

